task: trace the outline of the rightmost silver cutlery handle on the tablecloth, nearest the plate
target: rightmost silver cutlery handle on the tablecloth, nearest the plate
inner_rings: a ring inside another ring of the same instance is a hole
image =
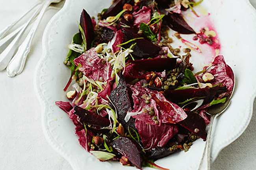
[[[43,5],[42,10],[37,16],[37,20],[35,20],[35,23],[33,24],[32,29],[28,33],[28,36],[25,38],[24,42],[20,45],[17,53],[15,54],[15,56],[13,56],[9,65],[7,66],[6,70],[7,70],[7,75],[9,77],[14,77],[15,75],[20,74],[23,71],[26,58],[28,56],[28,53],[30,52],[30,45],[31,45],[33,36],[43,17],[43,14],[45,13],[49,5],[50,5],[50,1],[46,1],[45,4]]]

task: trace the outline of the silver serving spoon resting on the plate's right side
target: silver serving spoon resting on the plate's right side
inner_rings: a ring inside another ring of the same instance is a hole
[[[233,74],[234,76],[234,74]],[[234,86],[235,86],[235,76],[234,76]],[[229,106],[230,102],[231,102],[231,97],[233,95],[234,92],[234,87],[232,89],[232,92],[230,94],[229,97],[227,97],[227,100],[225,103],[219,103],[217,105],[215,105],[214,107],[210,107],[207,110],[207,114],[211,115],[211,120],[210,120],[210,124],[209,124],[209,130],[208,130],[208,134],[207,134],[207,138],[206,138],[206,144],[204,147],[204,152],[202,155],[202,159],[200,161],[198,170],[210,170],[210,163],[211,163],[211,135],[212,135],[212,127],[213,127],[213,122],[215,121],[215,119],[221,115]],[[205,160],[206,159],[206,160]]]

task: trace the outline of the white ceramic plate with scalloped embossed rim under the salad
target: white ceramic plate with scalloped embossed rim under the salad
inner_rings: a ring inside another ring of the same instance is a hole
[[[66,0],[65,5],[50,20],[43,35],[43,55],[35,72],[35,91],[42,106],[42,126],[48,143],[65,157],[74,170],[127,169],[117,162],[100,162],[86,152],[74,134],[75,126],[68,115],[55,105],[55,101],[67,101],[63,88],[70,70],[63,65],[67,44],[78,32],[78,21],[84,8],[91,16],[97,16],[111,0]],[[211,12],[219,34],[226,63],[236,75],[235,92],[230,107],[217,120],[212,141],[212,160],[219,152],[239,137],[252,116],[252,104],[256,96],[256,14],[248,0],[204,0]],[[193,55],[192,55],[193,56]],[[195,170],[200,162],[204,142],[198,139],[189,152],[179,152],[156,161],[171,170]],[[186,163],[184,163],[186,161]],[[144,168],[149,169],[149,168]]]

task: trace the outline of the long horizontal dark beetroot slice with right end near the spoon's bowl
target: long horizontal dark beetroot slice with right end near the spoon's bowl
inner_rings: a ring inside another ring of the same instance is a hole
[[[226,87],[212,87],[202,89],[165,90],[163,95],[173,103],[179,103],[196,97],[205,97],[204,103],[210,103],[216,94],[221,94],[226,91]]]

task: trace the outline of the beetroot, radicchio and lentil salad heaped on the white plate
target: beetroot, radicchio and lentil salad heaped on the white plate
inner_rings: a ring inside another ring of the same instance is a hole
[[[83,9],[64,61],[69,101],[56,105],[100,161],[165,169],[154,161],[206,140],[207,109],[226,101],[234,73],[222,55],[195,72],[198,43],[221,49],[209,26],[197,30],[186,21],[185,13],[200,18],[200,2],[114,0],[98,20]]]

